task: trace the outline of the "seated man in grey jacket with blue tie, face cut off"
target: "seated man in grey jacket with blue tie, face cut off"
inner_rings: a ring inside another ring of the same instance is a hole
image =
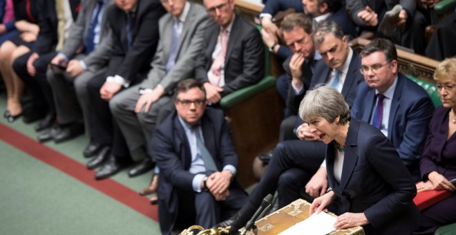
[[[104,75],[107,69],[109,48],[102,46],[98,50],[94,49],[98,48],[104,39],[109,38],[106,37],[108,28],[104,14],[109,3],[111,0],[82,1],[79,16],[70,28],[64,47],[50,61],[52,67],[48,69],[47,77],[53,90],[59,119],[52,131],[39,135],[40,141],[63,142],[84,132],[83,114],[89,115],[90,105],[86,91],[87,82],[94,76]],[[77,96],[75,92],[80,94]],[[88,134],[88,118],[85,123]],[[101,146],[97,145],[97,148],[92,148],[93,150],[84,156],[95,155],[99,147]]]

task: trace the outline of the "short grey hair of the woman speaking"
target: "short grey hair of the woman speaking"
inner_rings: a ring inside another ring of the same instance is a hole
[[[337,116],[340,116],[339,124],[347,123],[351,119],[350,108],[339,91],[324,84],[307,91],[299,105],[299,117],[306,122],[322,117],[332,123]]]

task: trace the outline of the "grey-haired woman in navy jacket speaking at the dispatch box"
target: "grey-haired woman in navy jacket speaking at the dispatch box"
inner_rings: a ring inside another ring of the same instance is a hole
[[[307,92],[299,116],[327,144],[330,189],[314,199],[310,214],[339,200],[337,229],[362,226],[365,234],[412,234],[419,223],[412,201],[417,189],[392,142],[376,127],[351,118],[341,93],[329,86]]]

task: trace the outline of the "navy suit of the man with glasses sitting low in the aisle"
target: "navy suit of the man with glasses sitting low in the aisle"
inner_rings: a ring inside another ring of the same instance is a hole
[[[201,129],[205,147],[211,153],[218,170],[222,171],[223,167],[228,164],[237,167],[238,156],[234,151],[231,131],[223,112],[207,108],[201,118]],[[218,223],[222,219],[227,219],[247,202],[247,194],[240,188],[236,180],[231,182],[229,196],[223,201],[214,200],[209,191],[201,193],[193,191],[192,180],[195,174],[189,172],[191,167],[190,145],[176,111],[173,111],[155,130],[151,146],[155,160],[160,167],[158,216],[162,234],[169,234],[179,226],[176,224],[179,216],[191,218],[192,208],[198,210],[197,216],[203,214],[207,217],[196,219],[196,224],[207,228],[215,225],[205,225],[207,220],[215,219]],[[212,172],[202,173],[210,175]],[[187,228],[195,224],[195,220],[188,221],[188,223],[181,226]]]

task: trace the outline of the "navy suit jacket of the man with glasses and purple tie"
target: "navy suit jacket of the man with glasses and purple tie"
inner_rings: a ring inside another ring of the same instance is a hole
[[[375,101],[375,89],[365,82],[359,84],[357,98],[352,106],[352,118],[370,122]],[[391,102],[388,139],[395,144],[396,151],[415,180],[419,180],[419,158],[433,112],[434,105],[428,93],[399,73]]]

